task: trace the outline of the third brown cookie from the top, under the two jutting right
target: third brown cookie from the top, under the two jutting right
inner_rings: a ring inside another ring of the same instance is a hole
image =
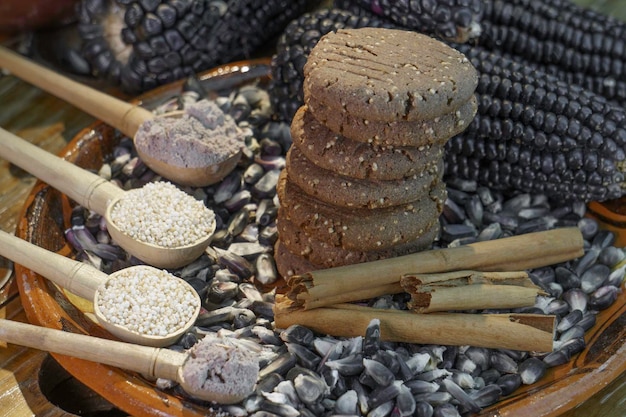
[[[387,146],[348,139],[320,123],[307,106],[291,122],[293,144],[315,165],[352,178],[398,180],[437,165],[443,145]]]

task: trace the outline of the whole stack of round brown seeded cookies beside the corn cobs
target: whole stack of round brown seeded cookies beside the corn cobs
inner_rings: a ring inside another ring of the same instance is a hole
[[[416,32],[362,28],[324,36],[304,75],[277,187],[281,275],[429,248],[444,145],[476,113],[472,64]]]

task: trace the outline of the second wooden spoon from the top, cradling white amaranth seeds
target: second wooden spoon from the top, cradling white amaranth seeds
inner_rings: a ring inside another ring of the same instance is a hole
[[[127,197],[112,182],[84,170],[0,128],[0,157],[47,182],[72,200],[102,215],[113,240],[128,253],[159,268],[179,268],[197,259],[209,245],[215,229],[197,242],[164,247],[137,240],[111,221],[111,209]],[[213,212],[207,211],[213,216]],[[215,226],[215,221],[213,221]]]

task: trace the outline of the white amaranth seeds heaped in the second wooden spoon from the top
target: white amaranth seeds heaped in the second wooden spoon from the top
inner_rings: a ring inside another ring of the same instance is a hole
[[[127,191],[112,207],[111,221],[135,240],[174,248],[211,234],[215,213],[172,183],[159,181]]]

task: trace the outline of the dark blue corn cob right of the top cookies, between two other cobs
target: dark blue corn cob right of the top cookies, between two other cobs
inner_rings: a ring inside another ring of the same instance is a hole
[[[604,97],[483,48],[457,48],[481,74],[476,89],[479,114],[508,121],[510,129],[518,130],[512,134],[523,143],[543,149],[556,136],[607,157],[615,157],[626,146],[626,131],[620,125],[623,109]],[[557,144],[555,149],[562,147]]]

